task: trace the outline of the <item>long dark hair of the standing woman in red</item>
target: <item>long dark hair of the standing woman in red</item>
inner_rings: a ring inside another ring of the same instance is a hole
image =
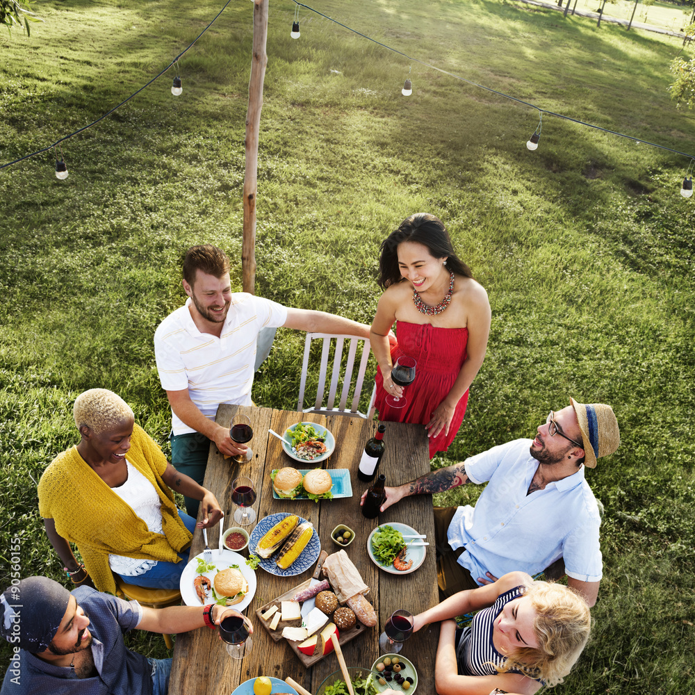
[[[443,222],[429,213],[416,213],[403,220],[400,227],[391,232],[382,242],[378,280],[379,287],[382,289],[402,279],[398,268],[398,246],[404,241],[414,241],[426,246],[436,259],[446,256],[446,267],[455,275],[473,277],[471,268],[468,268],[468,265],[455,254]]]

